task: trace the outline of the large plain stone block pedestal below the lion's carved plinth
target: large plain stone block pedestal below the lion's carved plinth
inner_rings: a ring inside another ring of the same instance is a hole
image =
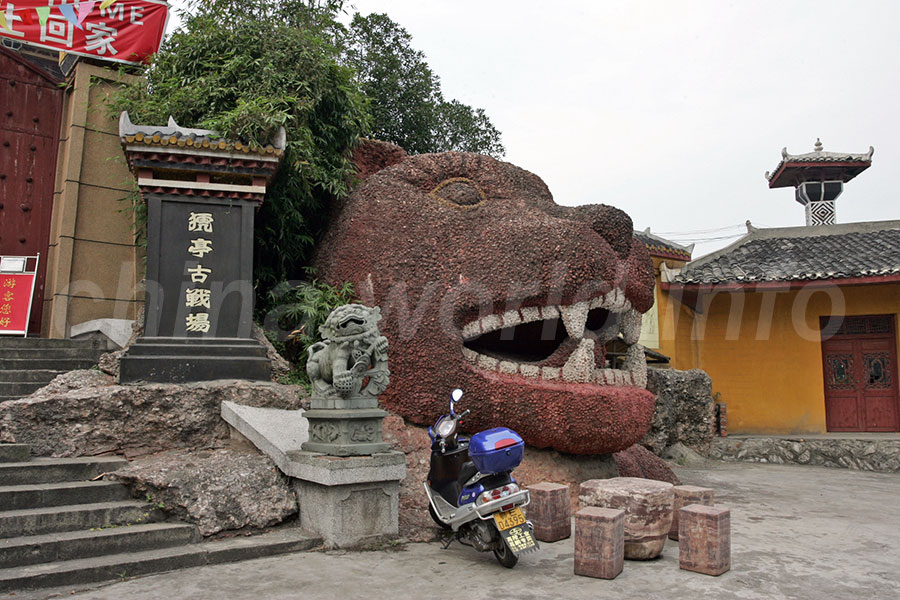
[[[326,546],[348,548],[397,535],[402,452],[338,458],[292,452],[290,475],[300,526]]]

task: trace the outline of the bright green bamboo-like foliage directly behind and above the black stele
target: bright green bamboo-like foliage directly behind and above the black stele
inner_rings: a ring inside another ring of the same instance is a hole
[[[348,192],[350,149],[369,128],[366,99],[336,43],[342,4],[196,0],[144,81],[112,107],[128,110],[135,123],[163,124],[172,115],[256,144],[285,127],[282,168],[256,219],[260,290],[300,272],[325,203]]]

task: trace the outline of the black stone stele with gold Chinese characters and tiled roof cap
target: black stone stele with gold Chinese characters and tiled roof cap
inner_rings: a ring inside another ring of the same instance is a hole
[[[251,339],[253,219],[284,153],[205,129],[134,125],[119,136],[147,204],[144,336],[119,381],[269,378],[265,349]]]

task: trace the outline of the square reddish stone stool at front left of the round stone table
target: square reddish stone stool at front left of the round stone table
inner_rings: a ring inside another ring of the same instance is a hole
[[[625,512],[589,506],[575,514],[575,574],[615,579],[625,565]]]

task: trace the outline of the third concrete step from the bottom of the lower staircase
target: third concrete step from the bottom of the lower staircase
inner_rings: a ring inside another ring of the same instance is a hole
[[[162,518],[162,511],[153,505],[134,500],[7,510],[0,512],[0,538],[153,523]]]

